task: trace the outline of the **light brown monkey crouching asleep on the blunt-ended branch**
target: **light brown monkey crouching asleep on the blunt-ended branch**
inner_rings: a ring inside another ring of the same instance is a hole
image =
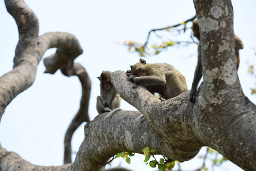
[[[142,84],[151,93],[159,93],[161,99],[171,99],[188,90],[185,77],[166,63],[147,64],[144,59],[127,70],[129,80]]]

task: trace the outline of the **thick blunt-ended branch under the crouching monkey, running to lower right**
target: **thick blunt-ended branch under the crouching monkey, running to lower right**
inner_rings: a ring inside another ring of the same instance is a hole
[[[124,71],[112,74],[117,92],[143,113],[155,135],[172,151],[172,156],[177,155],[174,160],[185,161],[189,153],[196,154],[202,146],[210,146],[241,168],[255,169],[256,107],[245,96],[234,101],[230,91],[231,99],[214,109],[213,104],[190,103],[189,91],[158,102],[147,89],[127,79]],[[203,87],[198,90],[198,98]],[[151,105],[153,108],[144,109]]]

